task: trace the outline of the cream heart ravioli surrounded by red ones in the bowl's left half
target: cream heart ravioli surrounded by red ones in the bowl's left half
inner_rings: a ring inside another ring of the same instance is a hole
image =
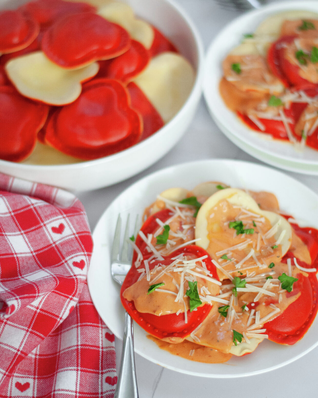
[[[97,62],[74,70],[51,62],[42,51],[10,60],[5,66],[12,84],[25,97],[49,105],[65,105],[81,94],[81,82],[95,76]]]

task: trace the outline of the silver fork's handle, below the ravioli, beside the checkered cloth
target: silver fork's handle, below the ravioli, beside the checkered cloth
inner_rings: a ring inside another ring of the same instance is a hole
[[[125,331],[122,341],[122,357],[114,398],[138,398],[134,355],[134,329],[132,318],[126,312]]]

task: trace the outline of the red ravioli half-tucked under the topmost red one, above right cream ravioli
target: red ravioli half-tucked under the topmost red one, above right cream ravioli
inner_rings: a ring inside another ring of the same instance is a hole
[[[118,79],[128,83],[148,65],[149,52],[139,41],[132,40],[130,49],[119,57],[99,62],[97,77]]]

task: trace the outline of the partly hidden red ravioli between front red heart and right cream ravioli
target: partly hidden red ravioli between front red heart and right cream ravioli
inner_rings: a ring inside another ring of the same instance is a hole
[[[143,132],[141,141],[161,129],[165,125],[157,109],[152,105],[142,90],[134,82],[127,86],[132,101],[132,108],[142,115]]]

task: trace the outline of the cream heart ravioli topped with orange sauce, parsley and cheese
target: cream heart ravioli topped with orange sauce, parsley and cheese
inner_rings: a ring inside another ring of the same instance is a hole
[[[284,217],[260,209],[248,193],[222,189],[204,202],[196,217],[196,244],[218,264],[220,279],[260,274],[279,261],[291,245]]]

